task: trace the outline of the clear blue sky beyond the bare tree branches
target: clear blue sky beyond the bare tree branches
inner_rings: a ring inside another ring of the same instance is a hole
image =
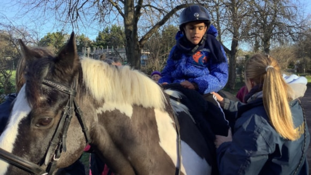
[[[291,0],[293,3],[299,2],[303,4],[305,15],[311,16],[311,0]],[[27,2],[27,1],[25,1]],[[15,2],[15,0],[1,0],[0,1],[0,23],[10,24],[15,26],[26,26],[27,30],[34,31],[38,34],[37,38],[42,38],[49,32],[60,31],[63,29],[64,33],[70,34],[72,31],[71,25],[63,25],[55,21],[54,14],[46,16],[50,20],[37,20],[38,17],[43,16],[40,12],[34,11],[34,13],[28,13],[23,16],[25,9],[21,4]],[[91,21],[91,20],[90,20]],[[117,24],[123,25],[123,21],[117,22]],[[78,33],[85,34],[91,40],[95,40],[99,31],[102,31],[106,26],[100,26],[89,22],[88,25],[80,26]],[[77,32],[77,29],[75,29]],[[228,47],[230,47],[230,42]],[[227,45],[227,44],[226,44]],[[241,47],[241,46],[240,46]],[[243,46],[242,46],[243,47]]]

